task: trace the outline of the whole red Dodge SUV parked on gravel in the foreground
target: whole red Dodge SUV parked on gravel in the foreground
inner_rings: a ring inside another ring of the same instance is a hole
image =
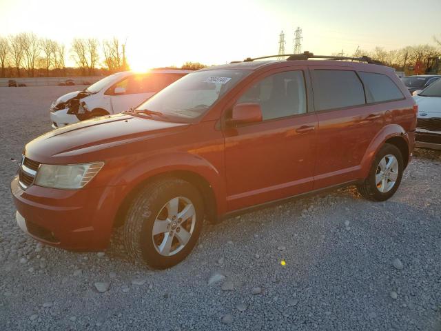
[[[68,250],[103,250],[123,226],[132,257],[167,268],[204,218],[340,185],[389,199],[413,150],[411,95],[367,57],[315,57],[198,70],[130,112],[34,139],[11,183],[19,226]]]

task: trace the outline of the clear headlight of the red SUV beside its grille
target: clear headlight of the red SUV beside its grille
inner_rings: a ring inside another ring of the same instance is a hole
[[[34,184],[46,188],[78,190],[89,183],[103,165],[101,161],[70,165],[41,164]]]

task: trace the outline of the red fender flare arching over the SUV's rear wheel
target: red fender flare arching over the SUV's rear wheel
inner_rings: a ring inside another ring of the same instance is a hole
[[[384,145],[384,143],[393,137],[400,137],[404,139],[409,146],[409,136],[407,132],[398,124],[389,124],[384,126],[380,132],[374,137],[367,148],[365,155],[360,163],[360,179],[365,179],[371,169],[372,161],[375,158],[378,150]]]

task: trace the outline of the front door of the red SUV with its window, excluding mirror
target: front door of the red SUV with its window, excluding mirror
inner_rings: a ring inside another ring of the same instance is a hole
[[[229,211],[313,188],[318,121],[307,112],[305,76],[264,74],[236,100],[259,103],[263,121],[224,130]]]

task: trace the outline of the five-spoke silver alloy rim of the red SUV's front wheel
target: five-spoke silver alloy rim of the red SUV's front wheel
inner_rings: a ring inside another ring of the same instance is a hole
[[[170,199],[158,212],[153,224],[152,241],[156,252],[170,257],[189,242],[196,225],[196,210],[185,197]]]

